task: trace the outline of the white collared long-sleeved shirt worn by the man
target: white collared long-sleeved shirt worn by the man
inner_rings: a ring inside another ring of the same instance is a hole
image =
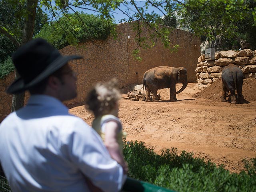
[[[87,192],[84,176],[114,192],[125,180],[100,136],[46,95],[32,95],[0,124],[0,153],[13,192]]]

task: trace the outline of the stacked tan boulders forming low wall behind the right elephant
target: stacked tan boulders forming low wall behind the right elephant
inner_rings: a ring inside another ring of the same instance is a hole
[[[228,50],[215,52],[215,60],[205,60],[204,54],[198,58],[196,82],[200,90],[210,86],[221,77],[222,68],[228,64],[237,65],[244,78],[256,78],[256,50]]]

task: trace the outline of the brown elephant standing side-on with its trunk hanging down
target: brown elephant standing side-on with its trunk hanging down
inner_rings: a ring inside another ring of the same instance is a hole
[[[176,83],[182,83],[182,88],[176,92]],[[150,92],[152,92],[152,101],[158,102],[157,90],[170,88],[170,101],[176,101],[176,94],[182,92],[188,85],[187,70],[184,67],[159,66],[152,68],[144,73],[143,93],[146,90],[146,100],[150,101]]]

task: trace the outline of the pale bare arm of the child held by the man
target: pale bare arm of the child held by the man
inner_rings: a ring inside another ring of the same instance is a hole
[[[124,169],[124,173],[128,172],[128,165],[124,160],[124,156],[117,142],[118,124],[115,121],[109,121],[105,124],[105,145],[110,156],[116,160]]]

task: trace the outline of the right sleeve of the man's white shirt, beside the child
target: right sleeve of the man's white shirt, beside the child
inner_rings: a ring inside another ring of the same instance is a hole
[[[121,190],[125,181],[122,166],[110,157],[100,136],[82,120],[76,122],[74,127],[74,131],[68,137],[68,150],[72,162],[102,190]]]

